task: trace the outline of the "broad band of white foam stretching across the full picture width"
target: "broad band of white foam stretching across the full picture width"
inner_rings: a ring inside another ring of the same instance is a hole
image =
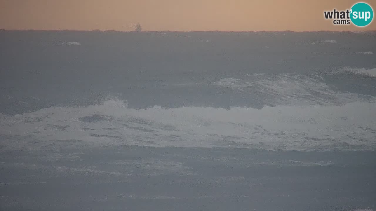
[[[367,112],[364,112],[367,111]],[[376,103],[130,109],[118,99],[82,108],[51,107],[0,119],[8,148],[141,145],[279,150],[374,149]]]

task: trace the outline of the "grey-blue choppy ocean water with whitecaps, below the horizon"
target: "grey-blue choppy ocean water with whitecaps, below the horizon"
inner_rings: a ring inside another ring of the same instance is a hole
[[[0,31],[0,209],[376,209],[375,32]]]

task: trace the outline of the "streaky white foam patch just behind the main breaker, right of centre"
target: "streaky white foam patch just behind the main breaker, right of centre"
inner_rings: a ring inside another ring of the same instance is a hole
[[[212,84],[258,96],[262,94],[273,96],[273,98],[264,99],[267,104],[341,105],[359,101],[364,97],[359,94],[336,91],[334,86],[324,83],[320,75],[280,74],[274,78],[265,79],[223,78]]]

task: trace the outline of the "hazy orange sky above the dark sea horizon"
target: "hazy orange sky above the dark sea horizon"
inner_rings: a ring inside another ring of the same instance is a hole
[[[42,30],[376,30],[335,26],[323,11],[355,0],[0,0],[0,28]],[[376,1],[369,3],[376,12]],[[373,18],[375,19],[375,18]]]

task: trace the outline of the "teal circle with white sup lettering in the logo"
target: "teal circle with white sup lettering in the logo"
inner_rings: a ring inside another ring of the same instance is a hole
[[[350,19],[356,26],[367,26],[373,18],[373,10],[370,5],[360,2],[352,6]]]

